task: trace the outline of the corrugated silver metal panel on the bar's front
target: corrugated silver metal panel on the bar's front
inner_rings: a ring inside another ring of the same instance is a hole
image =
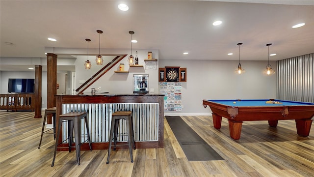
[[[158,103],[62,104],[62,114],[87,112],[92,142],[109,142],[111,114],[115,111],[132,111],[135,141],[158,141],[158,110]],[[84,123],[82,121],[82,136],[87,135]],[[67,132],[67,122],[64,122],[62,141],[67,139]],[[118,132],[120,135],[126,134],[125,120],[120,120]],[[127,140],[126,136],[118,137],[118,141]],[[84,141],[84,138],[81,141]]]

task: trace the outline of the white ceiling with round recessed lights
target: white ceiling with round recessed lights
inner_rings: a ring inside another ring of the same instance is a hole
[[[128,0],[126,12],[120,2],[1,0],[0,56],[46,58],[45,47],[86,48],[85,38],[98,49],[97,29],[103,49],[129,49],[133,30],[132,48],[158,49],[159,59],[238,60],[239,42],[241,60],[267,60],[267,43],[270,60],[314,52],[314,0]]]

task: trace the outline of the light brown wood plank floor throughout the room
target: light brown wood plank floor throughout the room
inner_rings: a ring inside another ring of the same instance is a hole
[[[42,114],[44,115],[44,113]],[[34,112],[0,112],[1,177],[314,177],[314,125],[309,137],[296,133],[293,120],[243,122],[240,140],[229,136],[228,121],[214,129],[211,116],[182,116],[224,160],[188,161],[166,119],[164,148],[58,151],[51,167],[54,140],[44,135],[38,149],[43,118]],[[197,149],[195,149],[197,150]]]

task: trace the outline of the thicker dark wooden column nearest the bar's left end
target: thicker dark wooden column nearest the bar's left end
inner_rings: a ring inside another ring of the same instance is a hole
[[[57,55],[47,54],[47,108],[55,107],[57,94]],[[47,118],[47,124],[52,124],[52,115]]]

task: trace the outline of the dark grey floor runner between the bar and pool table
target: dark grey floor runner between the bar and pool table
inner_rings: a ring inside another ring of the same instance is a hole
[[[180,116],[166,116],[188,161],[224,160]]]

